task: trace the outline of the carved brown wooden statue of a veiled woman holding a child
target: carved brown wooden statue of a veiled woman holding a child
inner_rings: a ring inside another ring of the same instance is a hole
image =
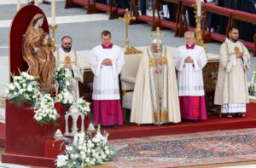
[[[38,83],[43,91],[55,90],[53,74],[55,71],[55,46],[45,33],[42,25],[43,14],[36,14],[23,35],[23,59],[29,66],[29,73],[38,77]]]

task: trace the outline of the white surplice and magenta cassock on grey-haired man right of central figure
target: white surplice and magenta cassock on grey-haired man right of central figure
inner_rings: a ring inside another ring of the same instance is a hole
[[[190,56],[193,63],[184,62]],[[178,96],[182,119],[207,119],[202,68],[207,64],[205,49],[198,45],[177,48]]]

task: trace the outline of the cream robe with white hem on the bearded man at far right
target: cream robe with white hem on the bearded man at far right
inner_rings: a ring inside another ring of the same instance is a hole
[[[235,48],[244,53],[236,58]],[[226,38],[220,46],[218,82],[215,90],[214,104],[222,105],[222,113],[246,112],[249,102],[247,71],[250,55],[243,43],[231,42]]]

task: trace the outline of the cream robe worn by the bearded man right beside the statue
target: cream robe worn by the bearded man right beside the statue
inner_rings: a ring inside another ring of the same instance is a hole
[[[70,90],[73,93],[73,97],[79,99],[79,81],[82,83],[84,82],[84,61],[81,58],[80,55],[74,50],[71,49],[69,52],[65,52],[62,48],[55,51],[55,67],[64,67],[65,66],[65,59],[67,59],[67,56],[70,58],[71,66],[73,69],[73,72],[67,68],[67,72],[69,72],[69,76],[73,77],[73,89],[75,89],[75,92],[73,92],[73,89]]]

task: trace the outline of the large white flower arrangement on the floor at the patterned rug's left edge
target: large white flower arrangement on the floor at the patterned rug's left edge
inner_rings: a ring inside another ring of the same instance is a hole
[[[114,151],[108,147],[108,133],[102,136],[98,127],[96,135],[92,133],[78,133],[74,136],[73,142],[66,146],[64,154],[55,159],[57,167],[88,167],[91,165],[102,165],[112,160]]]

